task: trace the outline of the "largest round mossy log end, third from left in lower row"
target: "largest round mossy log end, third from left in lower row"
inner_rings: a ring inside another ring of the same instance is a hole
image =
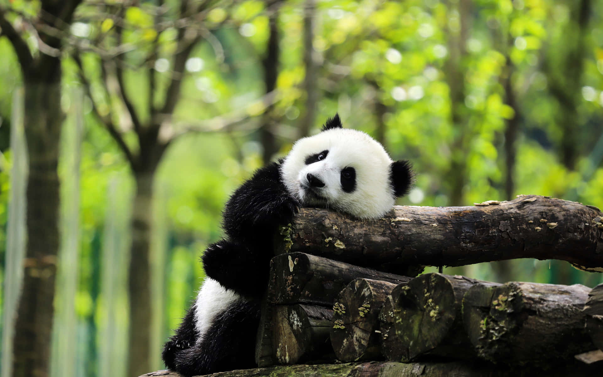
[[[431,273],[412,279],[406,287],[392,293],[391,305],[395,309],[390,318],[395,331],[391,331],[391,326],[386,326],[385,330],[390,346],[399,349],[387,350],[388,355],[396,357],[390,360],[408,362],[426,354],[475,358],[475,351],[463,327],[461,307],[464,294],[478,284],[495,283]],[[397,337],[397,340],[391,337]]]

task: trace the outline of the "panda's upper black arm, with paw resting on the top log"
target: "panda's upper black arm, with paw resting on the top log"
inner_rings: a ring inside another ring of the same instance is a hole
[[[273,162],[236,189],[224,208],[222,225],[232,241],[266,242],[280,224],[291,222],[299,207]]]

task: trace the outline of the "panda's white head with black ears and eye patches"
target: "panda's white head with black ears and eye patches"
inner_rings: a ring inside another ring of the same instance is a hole
[[[408,161],[393,161],[366,133],[342,128],[338,115],[317,135],[295,142],[281,173],[287,190],[303,206],[357,218],[382,217],[412,183]]]

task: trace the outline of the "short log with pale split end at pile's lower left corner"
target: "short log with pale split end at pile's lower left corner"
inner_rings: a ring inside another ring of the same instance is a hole
[[[277,305],[272,318],[277,363],[335,360],[329,341],[332,310],[311,305]]]

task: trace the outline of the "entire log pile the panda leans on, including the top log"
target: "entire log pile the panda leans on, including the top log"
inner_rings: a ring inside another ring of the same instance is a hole
[[[362,221],[302,209],[276,236],[260,368],[213,376],[601,373],[603,284],[410,276],[425,265],[515,258],[603,271],[602,217],[594,206],[537,195],[396,207]],[[303,363],[312,365],[294,365]]]

